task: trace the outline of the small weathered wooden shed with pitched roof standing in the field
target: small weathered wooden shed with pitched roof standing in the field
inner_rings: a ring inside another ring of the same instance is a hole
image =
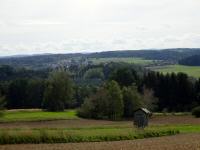
[[[148,126],[151,112],[146,108],[139,108],[134,112],[134,125],[138,128],[145,128]]]

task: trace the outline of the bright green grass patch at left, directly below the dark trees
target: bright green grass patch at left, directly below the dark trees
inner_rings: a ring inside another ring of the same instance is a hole
[[[43,121],[43,120],[63,120],[78,119],[75,110],[66,110],[64,112],[46,112],[42,110],[21,110],[5,111],[0,118],[0,122],[16,121]]]

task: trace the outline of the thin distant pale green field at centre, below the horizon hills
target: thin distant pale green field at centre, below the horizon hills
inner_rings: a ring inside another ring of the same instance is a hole
[[[134,63],[134,64],[145,65],[145,64],[153,63],[153,60],[146,60],[146,59],[137,58],[137,57],[91,58],[90,61],[93,61],[94,64],[100,64],[100,63],[106,63],[106,62],[126,62],[126,63],[131,63],[131,64]]]

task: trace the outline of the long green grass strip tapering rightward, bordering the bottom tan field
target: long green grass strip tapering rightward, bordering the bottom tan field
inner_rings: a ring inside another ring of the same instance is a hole
[[[145,130],[133,128],[103,129],[10,129],[0,131],[0,144],[74,143],[143,139],[178,134],[177,130]]]

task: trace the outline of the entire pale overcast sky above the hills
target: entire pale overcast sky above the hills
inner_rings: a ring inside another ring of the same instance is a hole
[[[200,0],[0,0],[0,55],[200,47]]]

